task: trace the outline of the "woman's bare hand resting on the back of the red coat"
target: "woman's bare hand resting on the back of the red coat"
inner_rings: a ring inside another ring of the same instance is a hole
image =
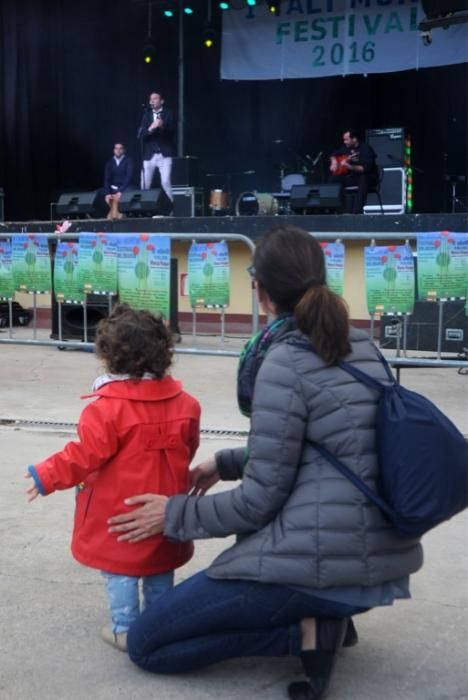
[[[164,531],[167,496],[156,493],[143,493],[139,496],[125,499],[125,505],[138,504],[140,508],[131,513],[122,513],[109,518],[109,532],[121,532],[117,537],[119,542],[141,542],[148,537],[159,535]]]

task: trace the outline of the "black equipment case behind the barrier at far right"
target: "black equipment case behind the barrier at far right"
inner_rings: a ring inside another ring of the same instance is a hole
[[[406,332],[408,350],[436,351],[438,339],[439,304],[433,301],[417,301],[414,313],[409,316]],[[383,316],[380,320],[380,347],[396,348],[400,334],[403,348],[402,316]],[[468,316],[464,301],[444,303],[442,318],[442,352],[462,353],[468,345]]]

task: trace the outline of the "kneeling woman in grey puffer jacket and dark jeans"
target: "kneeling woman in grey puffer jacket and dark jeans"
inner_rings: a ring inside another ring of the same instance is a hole
[[[180,542],[239,537],[206,571],[142,613],[128,649],[154,673],[297,655],[308,679],[291,684],[289,695],[316,700],[337,649],[357,641],[351,616],[409,597],[422,549],[402,540],[314,448],[325,446],[376,488],[377,392],[337,363],[346,358],[380,381],[388,377],[328,289],[320,245],[300,229],[274,229],[259,242],[253,270],[259,301],[274,320],[241,361],[240,397],[251,414],[247,450],[222,450],[199,465],[194,494],[146,494],[132,499],[142,507],[112,519],[113,531],[129,541],[160,532]],[[204,495],[218,479],[241,483]]]

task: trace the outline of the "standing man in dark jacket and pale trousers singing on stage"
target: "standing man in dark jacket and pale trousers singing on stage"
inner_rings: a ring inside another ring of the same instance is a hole
[[[157,92],[149,96],[149,107],[141,120],[138,136],[142,142],[141,189],[149,190],[154,171],[159,170],[161,187],[172,201],[171,170],[175,155],[174,117]]]

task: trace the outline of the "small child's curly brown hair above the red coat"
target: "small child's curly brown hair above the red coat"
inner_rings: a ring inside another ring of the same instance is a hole
[[[145,372],[162,379],[171,366],[174,343],[164,321],[150,313],[118,304],[96,329],[96,355],[111,374],[141,378]]]

